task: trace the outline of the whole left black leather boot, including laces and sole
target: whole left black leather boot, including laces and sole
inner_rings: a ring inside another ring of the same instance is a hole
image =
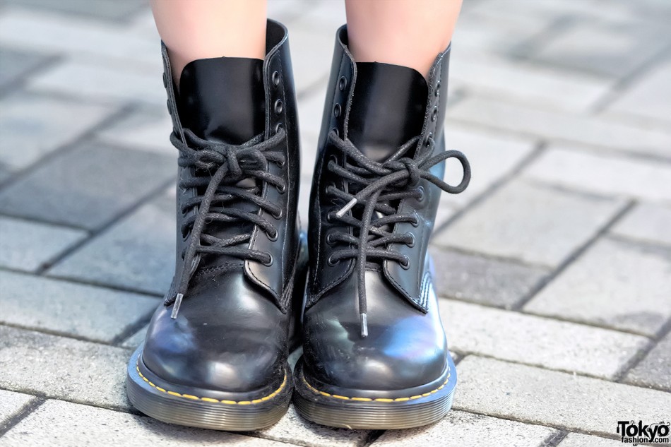
[[[131,357],[131,403],[164,422],[267,427],[287,410],[287,355],[307,261],[297,222],[299,138],[283,25],[264,61],[201,59],[179,94],[163,47],[179,150],[177,267]]]

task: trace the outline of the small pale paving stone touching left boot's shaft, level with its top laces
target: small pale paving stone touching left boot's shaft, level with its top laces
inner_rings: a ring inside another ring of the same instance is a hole
[[[97,133],[97,137],[125,148],[147,150],[177,159],[177,149],[170,143],[171,132],[172,121],[165,107],[141,107]]]

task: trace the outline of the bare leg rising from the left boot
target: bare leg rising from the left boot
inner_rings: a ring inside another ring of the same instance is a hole
[[[178,86],[196,59],[266,56],[266,0],[151,0],[151,8]]]

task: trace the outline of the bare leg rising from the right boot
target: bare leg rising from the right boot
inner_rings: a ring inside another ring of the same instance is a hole
[[[345,0],[357,62],[415,68],[426,77],[456,25],[461,0]]]

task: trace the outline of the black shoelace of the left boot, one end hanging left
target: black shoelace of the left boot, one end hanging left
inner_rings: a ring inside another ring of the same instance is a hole
[[[186,244],[182,256],[184,268],[179,278],[177,293],[165,300],[165,305],[174,303],[171,318],[177,318],[179,306],[189,287],[202,254],[216,254],[233,256],[240,259],[251,259],[265,265],[273,262],[271,254],[265,251],[248,249],[240,244],[249,242],[251,232],[236,234],[227,239],[220,239],[207,234],[206,225],[211,222],[251,222],[259,229],[268,234],[271,239],[278,236],[278,230],[271,220],[266,219],[255,211],[245,211],[232,208],[232,203],[249,202],[254,203],[261,210],[265,210],[273,217],[280,218],[282,209],[261,196],[263,186],[246,188],[240,184],[246,179],[254,179],[275,186],[279,191],[285,191],[287,184],[282,177],[271,174],[268,171],[268,163],[272,162],[282,166],[285,156],[282,153],[269,151],[283,141],[284,129],[280,129],[271,138],[263,140],[263,134],[259,134],[242,145],[230,145],[207,141],[199,138],[192,131],[185,129],[184,137],[186,144],[173,132],[170,141],[180,156],[178,164],[181,167],[194,167],[200,176],[190,176],[179,182],[182,189],[197,189],[205,187],[202,195],[182,203],[182,213],[196,208],[195,215],[187,217],[182,222],[182,234],[189,234],[190,239]],[[213,174],[210,174],[214,172]],[[216,205],[216,206],[215,206]],[[189,266],[189,268],[187,268]]]

